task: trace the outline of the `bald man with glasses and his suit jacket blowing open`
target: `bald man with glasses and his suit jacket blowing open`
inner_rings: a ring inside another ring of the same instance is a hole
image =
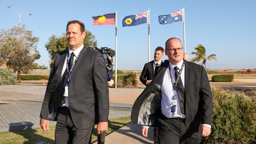
[[[165,60],[152,82],[137,98],[131,120],[159,127],[159,144],[199,144],[211,133],[212,94],[203,66],[183,60],[182,42],[165,43]],[[143,127],[147,134],[148,127]]]

